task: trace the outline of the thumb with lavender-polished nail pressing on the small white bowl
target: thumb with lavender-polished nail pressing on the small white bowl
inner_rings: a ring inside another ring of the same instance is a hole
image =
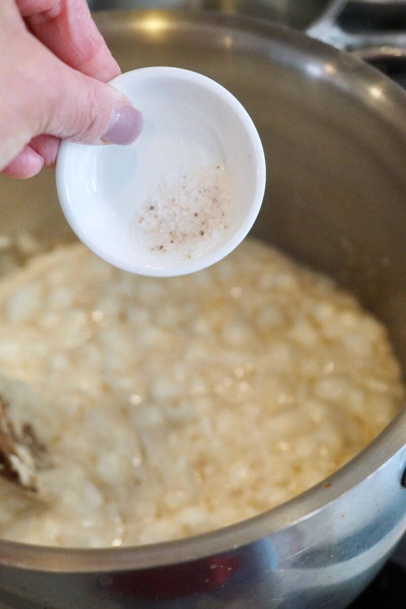
[[[5,72],[8,96],[0,96],[0,166],[42,134],[85,144],[135,141],[142,114],[127,97],[61,62],[30,35],[21,43]]]

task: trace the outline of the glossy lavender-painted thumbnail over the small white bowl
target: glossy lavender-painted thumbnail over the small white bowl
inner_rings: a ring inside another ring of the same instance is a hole
[[[116,103],[102,139],[109,144],[132,144],[141,133],[143,124],[144,119],[139,110],[127,104]]]

